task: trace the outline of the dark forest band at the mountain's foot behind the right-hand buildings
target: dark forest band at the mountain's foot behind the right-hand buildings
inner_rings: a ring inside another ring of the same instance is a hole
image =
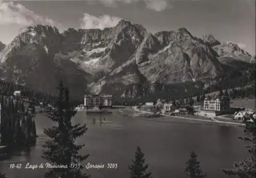
[[[244,89],[247,95],[255,97],[255,65],[248,64],[248,66],[242,66],[242,68],[246,72],[242,72],[242,69],[232,70],[232,72],[211,80],[173,84],[131,84],[126,86],[125,91],[119,93],[123,97],[113,98],[113,105],[137,105],[138,103],[153,102],[158,98],[167,101],[172,98],[180,100],[198,95],[202,96],[220,89],[230,90],[238,87],[243,88],[243,86],[250,86],[248,91],[247,87],[244,87]]]

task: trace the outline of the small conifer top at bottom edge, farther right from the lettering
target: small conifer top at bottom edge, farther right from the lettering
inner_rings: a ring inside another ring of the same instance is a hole
[[[206,177],[206,174],[203,173],[200,168],[200,162],[197,160],[197,154],[195,151],[190,152],[184,171],[190,176],[190,178]]]

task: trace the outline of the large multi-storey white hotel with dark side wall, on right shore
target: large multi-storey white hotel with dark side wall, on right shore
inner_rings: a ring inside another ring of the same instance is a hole
[[[230,109],[230,100],[227,97],[208,97],[204,99],[204,110],[227,111]]]

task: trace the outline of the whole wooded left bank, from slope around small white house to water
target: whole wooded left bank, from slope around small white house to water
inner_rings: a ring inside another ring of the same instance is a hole
[[[14,91],[22,96],[13,97]],[[54,103],[55,97],[48,93],[35,91],[22,85],[0,81],[0,144],[9,148],[29,146],[36,142],[35,105]],[[29,106],[25,106],[26,104]],[[32,111],[29,112],[29,111]],[[11,149],[8,149],[11,150]]]

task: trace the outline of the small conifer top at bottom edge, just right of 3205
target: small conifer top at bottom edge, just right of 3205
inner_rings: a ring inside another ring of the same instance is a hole
[[[148,165],[145,164],[144,154],[140,147],[137,147],[135,160],[133,160],[133,164],[129,166],[130,178],[149,178],[151,172],[146,173],[147,167]]]

